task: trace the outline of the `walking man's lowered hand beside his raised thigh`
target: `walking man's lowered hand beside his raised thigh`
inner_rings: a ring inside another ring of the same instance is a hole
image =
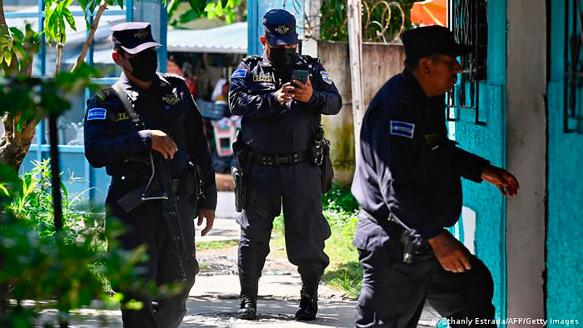
[[[445,271],[462,273],[472,268],[465,251],[449,232],[444,231],[429,239],[429,245]]]

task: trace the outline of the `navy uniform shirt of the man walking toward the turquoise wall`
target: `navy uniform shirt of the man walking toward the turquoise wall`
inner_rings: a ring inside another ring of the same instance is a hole
[[[458,221],[460,177],[481,182],[489,165],[447,138],[444,100],[427,97],[408,69],[389,79],[364,115],[352,183],[364,210],[392,212],[426,239]]]

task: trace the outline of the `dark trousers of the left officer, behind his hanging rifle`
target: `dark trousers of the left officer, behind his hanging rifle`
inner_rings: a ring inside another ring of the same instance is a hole
[[[115,197],[111,198],[115,199]],[[178,256],[171,244],[171,235],[166,221],[161,214],[161,201],[147,201],[129,214],[117,204],[117,201],[107,201],[107,204],[109,205],[108,218],[120,219],[127,229],[119,238],[121,246],[124,249],[135,249],[140,245],[147,246],[149,260],[143,266],[143,278],[154,281],[157,285],[180,281]],[[126,299],[133,298],[143,303],[143,308],[139,311],[122,309],[124,327],[178,327],[186,314],[188,292],[194,285],[194,278],[199,270],[194,244],[195,209],[188,198],[179,198],[178,208],[187,251],[191,252],[189,261],[183,264],[187,274],[186,287],[181,294],[173,298],[152,299],[148,295],[124,292],[124,287],[120,286],[118,289],[125,294]],[[158,303],[155,310],[152,308],[152,301]]]

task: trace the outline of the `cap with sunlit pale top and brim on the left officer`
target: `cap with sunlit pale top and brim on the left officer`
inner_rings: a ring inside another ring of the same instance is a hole
[[[128,22],[111,27],[111,40],[128,54],[134,55],[152,47],[161,47],[152,37],[152,26],[147,22]]]

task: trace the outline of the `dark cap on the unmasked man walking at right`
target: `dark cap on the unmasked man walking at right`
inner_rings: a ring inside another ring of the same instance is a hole
[[[472,52],[472,46],[459,44],[447,27],[424,26],[408,30],[401,35],[405,56],[409,59],[423,58],[434,54],[465,55]]]

